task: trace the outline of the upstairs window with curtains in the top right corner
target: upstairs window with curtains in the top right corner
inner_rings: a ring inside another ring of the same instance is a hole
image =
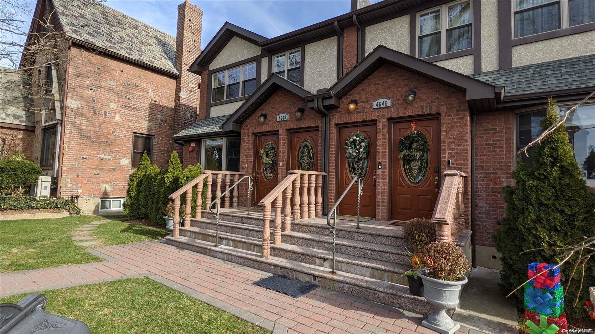
[[[595,22],[595,0],[515,0],[515,38]]]

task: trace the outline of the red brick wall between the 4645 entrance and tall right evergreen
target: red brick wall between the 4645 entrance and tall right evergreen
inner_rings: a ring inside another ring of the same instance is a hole
[[[491,235],[505,216],[502,187],[512,185],[514,114],[480,112],[475,119],[475,244],[492,246]]]

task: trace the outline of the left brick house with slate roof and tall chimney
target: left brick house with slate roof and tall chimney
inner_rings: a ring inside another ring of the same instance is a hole
[[[85,212],[121,211],[142,153],[164,168],[181,149],[171,137],[196,121],[200,78],[186,69],[201,51],[202,11],[178,6],[177,38],[91,0],[38,1],[31,31],[49,15],[64,57],[32,74],[33,88],[53,81],[55,98],[33,101],[27,154],[53,177],[52,194],[79,194]]]

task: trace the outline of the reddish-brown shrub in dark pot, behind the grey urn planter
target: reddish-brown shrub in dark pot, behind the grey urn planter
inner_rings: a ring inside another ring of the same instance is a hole
[[[421,260],[417,256],[417,252],[430,242],[436,241],[436,225],[430,219],[414,218],[409,220],[407,225],[403,228],[403,238],[411,245],[414,253],[411,253],[408,248],[405,251],[408,254],[412,269],[407,270],[402,275],[407,276],[409,282],[409,292],[414,296],[422,296],[422,288],[424,283],[417,275],[417,270],[423,267]]]

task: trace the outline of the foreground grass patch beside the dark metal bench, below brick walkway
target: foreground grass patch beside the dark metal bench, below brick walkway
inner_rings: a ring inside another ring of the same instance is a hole
[[[149,278],[41,292],[46,311],[80,320],[92,333],[269,333]],[[15,303],[27,294],[1,298]]]

